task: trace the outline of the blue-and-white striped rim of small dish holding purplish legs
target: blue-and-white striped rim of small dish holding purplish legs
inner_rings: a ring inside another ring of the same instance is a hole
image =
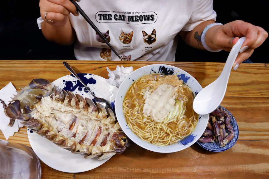
[[[207,150],[209,150],[211,152],[223,152],[223,151],[226,151],[226,150],[232,148],[232,146],[236,143],[236,141],[238,139],[238,135],[239,135],[238,125],[237,125],[237,122],[236,122],[234,116],[230,113],[230,111],[228,111],[224,107],[222,107],[222,106],[219,106],[219,107],[221,108],[221,110],[227,111],[229,113],[229,115],[231,116],[231,122],[230,123],[231,123],[231,125],[233,127],[234,137],[232,138],[232,140],[230,142],[225,144],[224,147],[220,147],[220,144],[218,142],[201,143],[201,142],[197,141],[197,143],[201,147],[203,147],[203,148],[205,148],[205,149],[207,149]]]

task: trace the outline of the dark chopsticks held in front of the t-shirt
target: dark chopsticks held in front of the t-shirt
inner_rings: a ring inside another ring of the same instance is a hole
[[[105,43],[109,46],[110,49],[121,59],[120,55],[116,52],[116,50],[110,45],[110,43],[106,40],[105,36],[99,31],[99,29],[94,25],[94,23],[90,20],[90,18],[86,15],[86,13],[81,9],[81,7],[76,3],[76,1],[70,0],[77,8],[77,11],[84,17],[84,19],[90,24],[90,26],[95,30],[95,32],[100,35],[100,37],[105,41]]]

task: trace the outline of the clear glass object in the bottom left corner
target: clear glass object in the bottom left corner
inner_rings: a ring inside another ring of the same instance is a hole
[[[32,148],[0,139],[0,178],[40,179],[40,161]]]

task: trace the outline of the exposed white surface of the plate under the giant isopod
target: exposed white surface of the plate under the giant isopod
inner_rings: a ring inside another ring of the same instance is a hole
[[[110,97],[102,96],[107,100],[110,100],[111,102],[115,102],[115,97],[118,88],[115,86],[112,86],[108,84],[105,80],[105,78],[100,77],[98,75],[90,74],[90,73],[78,73],[78,76],[86,76],[86,77],[92,77],[96,80],[98,84],[102,84],[102,87],[100,86],[97,88],[94,88],[93,85],[87,85],[87,87],[90,88],[92,92],[95,93],[96,96],[101,95],[104,92],[111,92]],[[55,81],[51,82],[52,85],[59,85],[58,87],[61,87],[63,80],[69,80],[71,79],[76,80],[73,75],[66,75],[61,78],[56,79]],[[83,92],[80,92],[83,94]],[[85,96],[84,96],[85,97]],[[87,96],[91,97],[91,96]],[[30,145],[33,149],[33,151],[37,154],[37,157],[46,165],[49,167],[61,171],[61,172],[67,172],[67,173],[78,173],[78,172],[86,172],[89,170],[92,170],[96,167],[99,167],[100,165],[104,164],[106,161],[108,161],[110,158],[106,158],[103,160],[98,160],[97,158],[91,158],[91,159],[85,159],[83,155],[73,154],[70,151],[63,149],[56,144],[53,144],[48,139],[38,135],[37,133],[33,132],[30,129],[27,129],[28,139],[30,142]],[[57,160],[55,160],[57,159]]]

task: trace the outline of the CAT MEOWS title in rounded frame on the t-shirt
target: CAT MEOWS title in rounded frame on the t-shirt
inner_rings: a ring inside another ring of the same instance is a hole
[[[99,23],[152,24],[157,21],[155,12],[99,11],[95,14]]]

